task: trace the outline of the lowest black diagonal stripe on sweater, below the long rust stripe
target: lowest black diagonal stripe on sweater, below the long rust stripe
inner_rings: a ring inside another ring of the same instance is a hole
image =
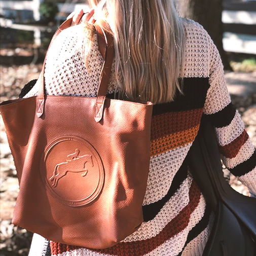
[[[177,254],[176,256],[181,256],[182,252],[184,251],[188,243],[191,242],[193,239],[195,239],[197,236],[199,236],[207,228],[210,220],[210,214],[211,214],[211,208],[208,205],[206,205],[203,217],[198,222],[198,224],[194,228],[192,228],[192,230],[189,232],[187,241],[182,251],[180,251],[179,254]]]

